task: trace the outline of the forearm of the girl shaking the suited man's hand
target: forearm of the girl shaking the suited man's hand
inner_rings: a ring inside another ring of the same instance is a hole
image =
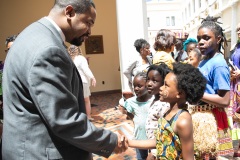
[[[154,149],[156,148],[156,139],[128,140],[128,147],[138,149]]]

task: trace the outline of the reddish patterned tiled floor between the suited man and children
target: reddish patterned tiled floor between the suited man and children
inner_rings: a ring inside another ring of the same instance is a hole
[[[92,95],[92,117],[97,127],[103,127],[114,132],[124,133],[128,138],[132,136],[133,123],[126,119],[126,115],[115,109],[121,98],[121,93]],[[136,160],[135,149],[128,148],[122,154],[112,154],[109,158],[94,155],[94,160]]]

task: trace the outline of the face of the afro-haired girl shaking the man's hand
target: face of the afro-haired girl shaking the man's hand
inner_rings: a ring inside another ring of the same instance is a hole
[[[177,89],[176,76],[170,72],[166,75],[164,85],[160,87],[160,101],[173,102],[177,99],[179,91]]]

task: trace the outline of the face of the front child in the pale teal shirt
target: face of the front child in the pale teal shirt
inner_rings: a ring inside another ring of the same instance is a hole
[[[146,80],[141,76],[136,76],[133,80],[133,88],[137,97],[147,94]]]

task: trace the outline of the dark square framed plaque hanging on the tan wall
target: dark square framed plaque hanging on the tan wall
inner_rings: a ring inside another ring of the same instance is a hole
[[[85,40],[86,54],[103,54],[103,36],[92,35]]]

